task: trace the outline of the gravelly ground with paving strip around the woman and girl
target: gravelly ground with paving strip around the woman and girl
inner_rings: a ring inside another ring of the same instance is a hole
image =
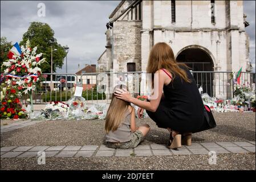
[[[18,121],[1,126],[1,169],[255,170],[255,113],[214,117],[216,128],[193,134],[192,146],[178,150],[165,146],[168,132],[149,118],[136,119],[151,131],[128,150],[104,146],[104,121]],[[217,154],[216,165],[208,164],[210,151]],[[46,165],[37,163],[42,154]]]

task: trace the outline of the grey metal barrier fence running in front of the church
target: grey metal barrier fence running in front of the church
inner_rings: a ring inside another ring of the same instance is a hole
[[[233,98],[234,82],[231,72],[191,72],[198,88],[202,87],[202,93],[208,93],[211,97]],[[82,96],[88,104],[98,102],[110,103],[111,89],[115,86],[115,80],[128,83],[128,90],[133,96],[145,94],[141,89],[143,72],[105,72],[83,73],[75,75],[69,73],[44,73],[44,80],[37,86],[33,93],[33,104],[46,104],[49,101],[67,101],[75,92],[75,87],[82,86]],[[255,86],[255,73],[242,72],[241,84]],[[112,88],[111,88],[112,87]],[[142,86],[143,87],[143,86]],[[23,96],[23,104],[27,103],[29,96]]]

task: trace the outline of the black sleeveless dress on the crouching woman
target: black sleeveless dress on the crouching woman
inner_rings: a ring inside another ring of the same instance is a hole
[[[192,74],[188,69],[181,68],[192,82],[175,75],[169,85],[164,85],[164,100],[160,101],[157,110],[154,113],[147,110],[147,113],[158,127],[196,133],[207,125],[204,104]]]

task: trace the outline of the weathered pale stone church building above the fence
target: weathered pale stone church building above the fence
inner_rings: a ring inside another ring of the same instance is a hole
[[[193,71],[246,72],[245,18],[243,1],[121,1],[109,15],[100,72],[145,72],[158,42]]]

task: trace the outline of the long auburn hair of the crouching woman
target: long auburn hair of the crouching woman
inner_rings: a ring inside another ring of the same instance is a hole
[[[149,54],[148,65],[147,65],[147,73],[152,73],[152,86],[153,86],[153,73],[156,73],[157,70],[164,68],[167,69],[170,73],[172,73],[173,80],[175,75],[178,75],[185,80],[186,82],[191,82],[186,75],[184,69],[181,69],[179,66],[182,65],[188,68],[183,63],[177,63],[172,48],[164,42],[160,42],[155,44],[151,52]]]

